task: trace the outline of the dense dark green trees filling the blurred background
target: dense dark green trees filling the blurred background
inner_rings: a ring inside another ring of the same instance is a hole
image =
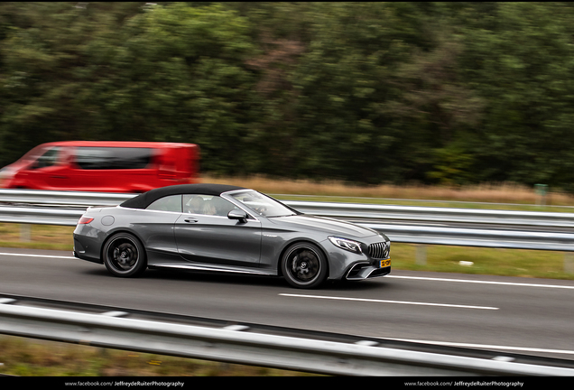
[[[574,190],[569,3],[0,3],[0,166],[199,144],[228,175]]]

